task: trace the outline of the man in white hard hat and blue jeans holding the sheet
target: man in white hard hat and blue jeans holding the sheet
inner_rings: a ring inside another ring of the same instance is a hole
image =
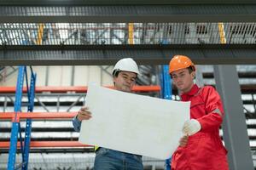
[[[120,59],[113,67],[114,89],[131,93],[139,74],[137,63],[131,58]],[[81,122],[91,118],[88,108],[82,107],[73,119],[73,127],[79,132]],[[94,170],[143,170],[142,156],[118,150],[96,147]]]

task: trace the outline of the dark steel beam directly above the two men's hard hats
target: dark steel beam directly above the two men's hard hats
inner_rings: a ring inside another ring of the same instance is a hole
[[[256,65],[255,44],[6,46],[0,65],[113,65],[125,57],[166,65],[174,54],[188,55],[197,65]]]

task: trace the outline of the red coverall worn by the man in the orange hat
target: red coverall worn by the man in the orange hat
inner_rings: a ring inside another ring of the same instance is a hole
[[[201,131],[189,136],[188,144],[174,152],[172,170],[229,169],[227,150],[218,132],[224,109],[217,91],[210,86],[198,88],[195,84],[181,98],[182,101],[191,101],[190,118],[200,122]]]

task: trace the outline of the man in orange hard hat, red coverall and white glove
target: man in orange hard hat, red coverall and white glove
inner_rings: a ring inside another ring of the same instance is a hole
[[[218,92],[211,86],[199,88],[195,79],[195,65],[184,55],[175,55],[169,64],[173,84],[182,101],[190,101],[190,120],[184,123],[183,133],[188,143],[179,146],[172,155],[172,170],[227,170],[227,150],[218,129],[224,109]]]

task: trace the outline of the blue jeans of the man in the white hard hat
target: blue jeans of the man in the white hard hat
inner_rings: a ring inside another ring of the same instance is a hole
[[[99,148],[96,150],[94,170],[143,170],[142,156]]]

